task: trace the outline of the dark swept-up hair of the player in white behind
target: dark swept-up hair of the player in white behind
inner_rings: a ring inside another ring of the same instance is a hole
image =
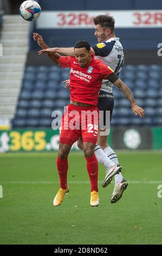
[[[93,22],[95,25],[100,25],[102,28],[109,28],[114,32],[115,20],[112,16],[108,15],[98,15],[94,17]]]

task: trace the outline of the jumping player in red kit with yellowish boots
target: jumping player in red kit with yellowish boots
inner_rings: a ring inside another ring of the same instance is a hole
[[[41,50],[39,53],[48,53],[49,50]],[[94,154],[94,148],[98,139],[98,93],[103,79],[108,79],[115,86],[129,88],[116,76],[109,66],[100,60],[94,59],[87,41],[79,41],[74,46],[75,57],[61,57],[52,54],[51,59],[63,68],[70,68],[70,104],[64,113],[61,124],[60,147],[57,157],[57,169],[60,177],[60,189],[54,198],[54,205],[62,203],[64,195],[69,191],[67,184],[68,154],[74,142],[82,136],[83,151],[87,160],[87,170],[91,184],[90,205],[99,205],[98,196],[98,161]],[[144,115],[131,96],[135,113]],[[88,112],[88,115],[82,115]],[[75,121],[74,121],[75,115]],[[89,115],[91,118],[89,118]],[[83,118],[85,117],[85,118]],[[90,121],[89,121],[90,120]],[[75,123],[75,125],[74,125]],[[116,172],[120,168],[114,166]],[[114,171],[114,170],[113,170]]]

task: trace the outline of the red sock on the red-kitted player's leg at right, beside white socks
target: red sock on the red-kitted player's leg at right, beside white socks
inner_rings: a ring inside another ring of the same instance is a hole
[[[98,161],[96,159],[95,154],[88,158],[87,160],[87,170],[89,174],[90,184],[91,184],[91,192],[95,190],[98,192]]]

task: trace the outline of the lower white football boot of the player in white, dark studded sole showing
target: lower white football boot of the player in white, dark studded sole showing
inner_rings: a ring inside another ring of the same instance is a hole
[[[125,179],[122,179],[118,184],[115,185],[114,191],[111,197],[111,203],[116,203],[121,197],[122,193],[126,190],[128,182]]]

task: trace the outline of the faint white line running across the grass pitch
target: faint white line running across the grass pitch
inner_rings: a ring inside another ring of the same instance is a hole
[[[68,184],[89,184],[90,181],[88,180],[76,180],[72,181],[69,180]],[[98,181],[98,183],[102,183],[101,180]],[[20,180],[20,181],[1,181],[1,184],[59,184],[59,181],[34,181],[34,180]],[[162,184],[162,180],[148,180],[148,181],[142,181],[142,180],[130,180],[128,181],[128,184]]]

